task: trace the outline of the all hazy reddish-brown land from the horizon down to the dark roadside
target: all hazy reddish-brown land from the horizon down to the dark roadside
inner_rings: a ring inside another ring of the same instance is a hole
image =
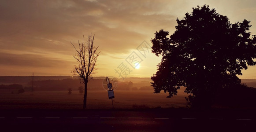
[[[153,93],[150,78],[110,79],[115,86],[114,108],[186,107],[185,97],[188,94],[184,93],[185,87],[178,90],[178,95],[166,98],[168,93],[163,91]],[[249,87],[256,86],[254,79],[241,81]],[[0,109],[82,109],[83,93],[79,93],[78,87],[83,84],[76,77],[35,76],[33,92],[31,86],[32,77],[0,77]],[[22,87],[25,92],[19,93],[18,87]],[[88,109],[112,108],[111,99],[108,99],[108,92],[104,87],[105,77],[94,77],[89,81]],[[72,90],[71,94],[68,94],[69,88]]]

